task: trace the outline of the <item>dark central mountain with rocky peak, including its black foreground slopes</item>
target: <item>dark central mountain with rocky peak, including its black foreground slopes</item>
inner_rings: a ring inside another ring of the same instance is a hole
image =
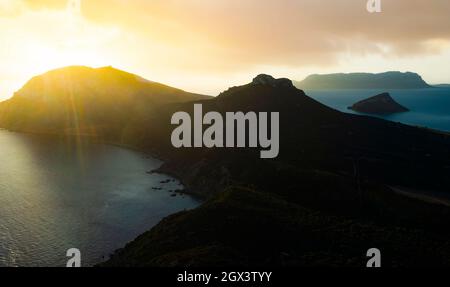
[[[143,141],[164,155],[159,172],[207,201],[164,219],[101,266],[361,267],[373,246],[384,266],[450,266],[448,207],[396,192],[448,195],[448,135],[344,114],[267,75],[198,103],[204,113],[279,112],[280,156],[175,149],[170,117],[192,117],[193,103],[166,106]]]

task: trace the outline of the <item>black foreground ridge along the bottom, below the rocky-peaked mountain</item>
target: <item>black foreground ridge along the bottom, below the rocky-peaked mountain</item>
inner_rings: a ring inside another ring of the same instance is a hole
[[[373,246],[382,250],[385,268],[450,264],[445,236],[332,216],[272,193],[230,188],[196,210],[164,219],[103,265],[364,268]]]

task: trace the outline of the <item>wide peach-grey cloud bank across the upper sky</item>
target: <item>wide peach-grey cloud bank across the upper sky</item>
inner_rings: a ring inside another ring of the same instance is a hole
[[[84,10],[93,21],[186,47],[191,60],[179,60],[198,68],[327,65],[347,51],[418,55],[439,52],[430,41],[450,40],[448,0],[384,0],[380,14],[369,14],[365,2],[96,0]]]

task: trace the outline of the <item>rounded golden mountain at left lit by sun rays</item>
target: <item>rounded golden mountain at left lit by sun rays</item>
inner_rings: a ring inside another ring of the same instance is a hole
[[[0,127],[121,138],[161,105],[204,99],[112,67],[66,67],[36,76],[0,103]]]

